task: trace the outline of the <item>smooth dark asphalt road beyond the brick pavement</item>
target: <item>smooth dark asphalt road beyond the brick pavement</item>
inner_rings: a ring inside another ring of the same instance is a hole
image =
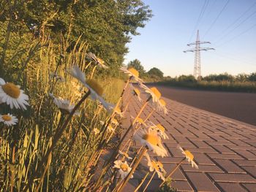
[[[162,96],[168,99],[256,125],[256,93],[199,91],[149,83],[148,85],[157,86]]]

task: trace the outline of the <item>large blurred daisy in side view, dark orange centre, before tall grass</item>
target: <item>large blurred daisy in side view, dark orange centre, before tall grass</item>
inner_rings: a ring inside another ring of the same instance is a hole
[[[99,83],[95,80],[86,80],[85,75],[78,66],[73,66],[72,69],[69,70],[69,74],[71,74],[73,77],[78,79],[86,88],[91,91],[90,96],[93,100],[98,100],[103,107],[108,110],[108,112],[111,111],[111,104],[108,104],[103,98],[103,88]]]

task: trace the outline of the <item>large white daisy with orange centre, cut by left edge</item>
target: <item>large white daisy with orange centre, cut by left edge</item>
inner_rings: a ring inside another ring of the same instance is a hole
[[[13,84],[12,82],[5,82],[0,78],[0,101],[2,103],[7,103],[12,109],[26,110],[26,105],[28,103],[29,96],[27,96],[20,86]]]

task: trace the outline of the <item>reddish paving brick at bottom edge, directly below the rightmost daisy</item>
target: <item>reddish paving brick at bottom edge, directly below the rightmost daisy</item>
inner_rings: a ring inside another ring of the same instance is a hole
[[[192,185],[195,186],[195,191],[219,191],[206,174],[198,172],[187,172],[186,174]]]

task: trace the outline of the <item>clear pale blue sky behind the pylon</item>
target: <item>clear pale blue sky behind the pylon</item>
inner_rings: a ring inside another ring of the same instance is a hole
[[[153,12],[140,35],[127,45],[124,64],[137,58],[146,71],[159,68],[165,76],[193,74],[195,53],[187,44],[201,47],[201,72],[250,74],[256,72],[256,0],[144,0]],[[205,9],[203,9],[205,7]],[[200,14],[201,13],[201,14]]]

